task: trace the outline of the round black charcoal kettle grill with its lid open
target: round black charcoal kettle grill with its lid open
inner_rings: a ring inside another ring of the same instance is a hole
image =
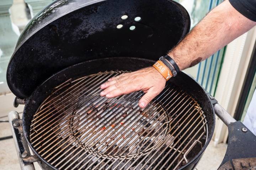
[[[179,73],[144,109],[141,91],[99,95],[108,78],[152,66],[189,29],[187,11],[169,0],[57,0],[42,10],[7,69],[14,105],[25,103],[22,120],[9,116],[21,168],[194,169],[212,138],[214,109],[237,125],[196,81]],[[222,164],[248,158],[245,150]]]

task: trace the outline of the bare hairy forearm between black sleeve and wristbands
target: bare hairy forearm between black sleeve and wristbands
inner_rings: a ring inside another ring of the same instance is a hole
[[[183,70],[213,55],[223,46],[255,26],[228,0],[214,8],[168,55]]]

